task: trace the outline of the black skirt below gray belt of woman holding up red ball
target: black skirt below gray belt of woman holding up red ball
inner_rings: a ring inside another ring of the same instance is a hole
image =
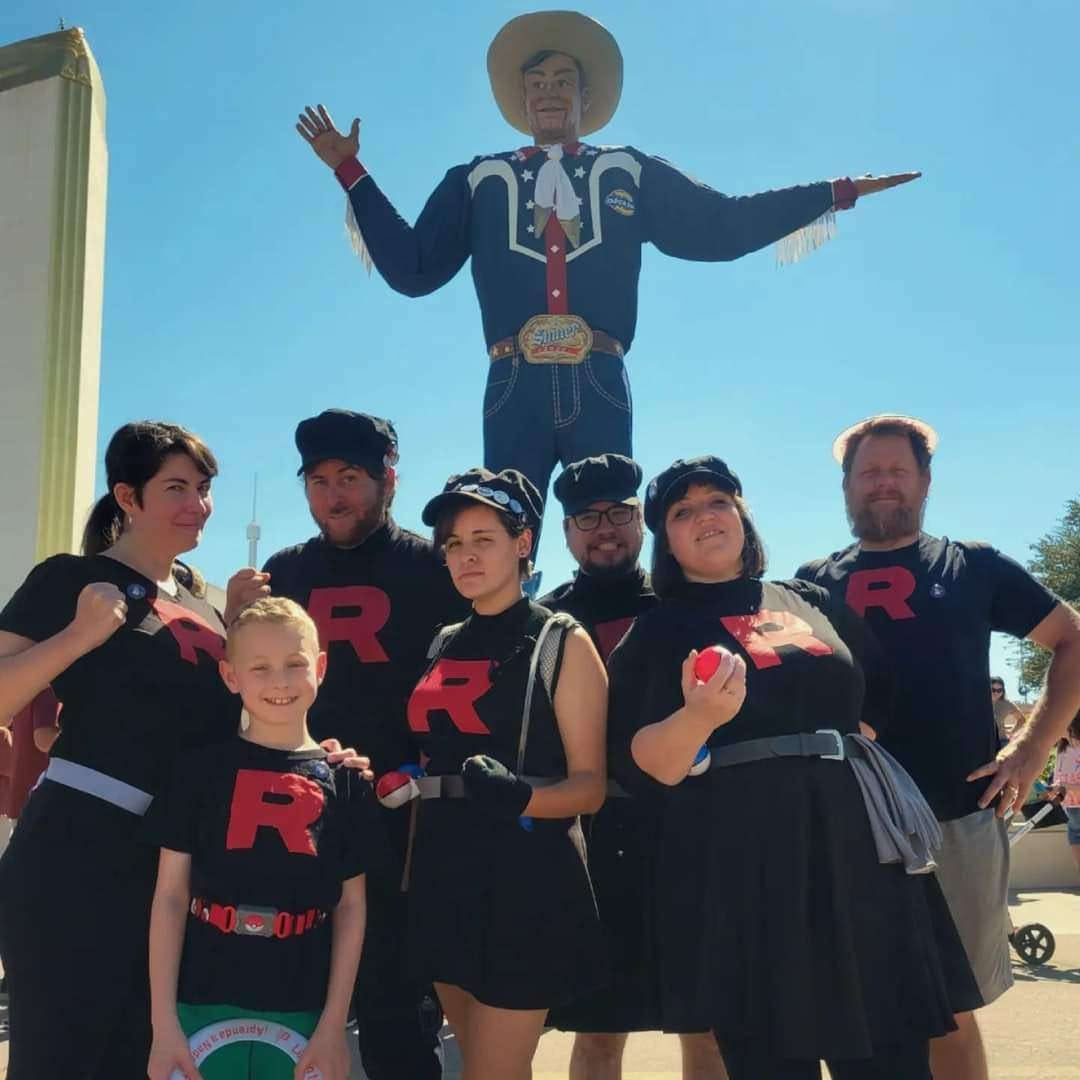
[[[881,865],[843,762],[787,758],[677,788],[657,865],[663,1026],[778,1057],[869,1056],[978,1000],[932,875]]]

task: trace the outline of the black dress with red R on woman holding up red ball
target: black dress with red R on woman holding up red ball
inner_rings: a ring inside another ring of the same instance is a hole
[[[683,584],[611,658],[616,771],[660,818],[651,945],[667,1029],[779,1058],[868,1057],[951,1030],[955,995],[975,993],[936,881],[878,862],[849,766],[778,758],[665,787],[631,757],[634,733],[681,706],[687,653],[715,644],[745,658],[747,692],[710,746],[880,724],[837,630],[852,621],[804,582]]]

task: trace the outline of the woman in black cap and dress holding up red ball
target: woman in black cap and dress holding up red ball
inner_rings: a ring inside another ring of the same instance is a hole
[[[929,1080],[950,995],[977,991],[927,873],[932,815],[858,733],[888,713],[858,620],[761,580],[718,458],[661,473],[645,521],[661,603],[609,660],[610,716],[618,778],[657,800],[665,1025],[711,1027],[731,1080],[819,1077],[822,1058],[835,1080]]]

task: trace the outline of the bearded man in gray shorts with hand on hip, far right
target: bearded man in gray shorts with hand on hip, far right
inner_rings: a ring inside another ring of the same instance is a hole
[[[988,544],[922,531],[936,444],[929,424],[892,414],[840,434],[833,456],[855,543],[797,576],[863,616],[892,661],[895,712],[881,744],[942,823],[937,876],[988,1004],[1012,985],[1001,819],[1023,805],[1080,705],[1080,616]],[[991,631],[1054,653],[1030,720],[1001,750],[986,693]],[[956,1020],[956,1031],[931,1042],[933,1074],[985,1080],[974,1013]]]

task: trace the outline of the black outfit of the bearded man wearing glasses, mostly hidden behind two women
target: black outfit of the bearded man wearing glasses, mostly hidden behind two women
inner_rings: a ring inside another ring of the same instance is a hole
[[[579,572],[540,603],[580,620],[606,663],[634,619],[658,600],[649,576],[638,567],[616,578]],[[582,819],[611,969],[604,986],[552,1010],[552,1027],[621,1032],[652,1031],[662,1024],[648,951],[656,935],[647,926],[653,915],[654,810],[649,799],[608,798],[595,814]]]

